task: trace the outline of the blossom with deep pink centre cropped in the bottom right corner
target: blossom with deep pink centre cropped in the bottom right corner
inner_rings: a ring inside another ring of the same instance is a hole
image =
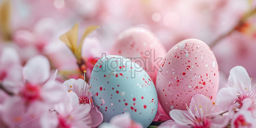
[[[256,118],[252,115],[250,106],[253,101],[249,98],[243,100],[243,106],[236,112],[231,120],[231,128],[255,128]]]

